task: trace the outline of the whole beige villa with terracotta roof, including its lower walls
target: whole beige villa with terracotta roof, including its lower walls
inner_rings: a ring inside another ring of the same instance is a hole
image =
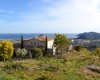
[[[18,48],[20,48],[21,42],[14,43],[13,45],[14,45],[14,49],[16,51]],[[38,36],[38,37],[34,37],[34,38],[24,39],[23,46],[25,49],[28,50],[28,52],[30,52],[30,49],[34,46],[44,49],[46,46],[46,36]],[[47,48],[48,48],[48,52],[51,55],[56,54],[56,47],[54,46],[54,38],[47,36]]]

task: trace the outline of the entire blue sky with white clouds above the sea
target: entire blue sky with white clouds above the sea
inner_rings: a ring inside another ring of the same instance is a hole
[[[100,0],[0,0],[0,33],[100,32]]]

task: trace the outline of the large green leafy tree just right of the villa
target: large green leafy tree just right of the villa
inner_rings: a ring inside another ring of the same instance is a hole
[[[69,39],[66,38],[64,34],[55,34],[54,44],[58,51],[62,51],[62,49],[66,48],[69,44]]]

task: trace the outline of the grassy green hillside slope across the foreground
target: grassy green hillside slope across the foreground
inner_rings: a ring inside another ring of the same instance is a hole
[[[100,58],[69,52],[55,58],[0,62],[0,80],[100,80]]]

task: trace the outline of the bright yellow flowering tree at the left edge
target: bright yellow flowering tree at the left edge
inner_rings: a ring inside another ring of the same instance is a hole
[[[13,45],[10,41],[1,41],[0,42],[0,57],[5,59],[11,58],[13,56]]]

